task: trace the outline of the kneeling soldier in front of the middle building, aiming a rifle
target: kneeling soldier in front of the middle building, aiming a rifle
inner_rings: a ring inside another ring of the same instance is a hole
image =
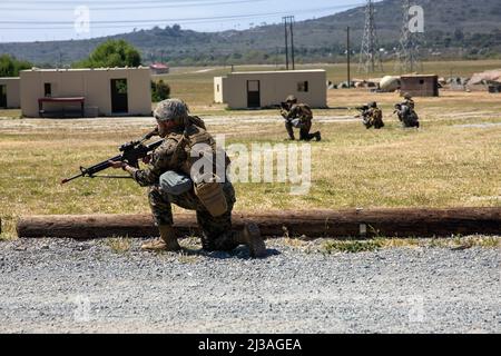
[[[322,140],[320,131],[310,134],[313,119],[312,109],[305,103],[297,103],[296,97],[288,96],[285,102],[282,102],[281,115],[285,119],[285,129],[291,140],[295,140],[293,128],[299,129],[299,140]]]

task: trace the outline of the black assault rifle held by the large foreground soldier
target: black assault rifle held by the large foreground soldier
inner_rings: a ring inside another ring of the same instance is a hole
[[[145,142],[154,136],[158,136],[157,129],[153,130],[151,132],[146,134],[141,139],[139,139],[137,141],[130,141],[130,142],[121,145],[118,148],[121,154],[118,156],[106,159],[102,162],[94,165],[89,168],[80,167],[79,175],[76,175],[71,178],[62,179],[61,185],[67,184],[71,180],[80,178],[80,177],[130,178],[128,176],[126,177],[126,176],[96,176],[96,175],[105,169],[110,168],[111,165],[109,161],[124,161],[129,166],[139,168],[139,159],[147,157],[149,154],[151,154],[157,147],[159,147],[164,142],[164,140],[158,140],[153,144],[145,145]]]

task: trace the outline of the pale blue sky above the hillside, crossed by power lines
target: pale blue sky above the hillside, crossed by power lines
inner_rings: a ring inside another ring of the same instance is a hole
[[[175,23],[196,31],[243,30],[281,22],[287,14],[301,21],[362,3],[363,0],[0,0],[0,42],[85,39]]]

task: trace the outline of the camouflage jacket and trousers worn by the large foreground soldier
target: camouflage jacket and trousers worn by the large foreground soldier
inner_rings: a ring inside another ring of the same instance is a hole
[[[194,189],[179,196],[174,196],[166,194],[159,187],[159,177],[164,172],[176,170],[186,174],[188,154],[185,149],[179,149],[178,145],[183,139],[183,131],[184,128],[178,128],[168,135],[164,144],[154,151],[148,168],[136,170],[132,178],[140,186],[150,187],[148,200],[157,226],[173,225],[171,204],[176,204],[184,209],[196,210],[197,221],[203,230],[202,244],[204,249],[232,250],[238,246],[234,239],[235,233],[232,231],[232,210],[236,198],[233,185],[227,179],[222,185],[228,209],[223,216],[218,217],[213,217],[208,212],[195,195]],[[194,135],[205,135],[210,142],[215,144],[210,135],[200,127],[190,126],[187,134],[189,138]]]

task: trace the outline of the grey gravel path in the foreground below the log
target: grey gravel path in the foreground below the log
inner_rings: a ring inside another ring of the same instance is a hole
[[[139,244],[0,243],[0,332],[501,333],[495,248],[324,255],[282,239],[253,260]]]

